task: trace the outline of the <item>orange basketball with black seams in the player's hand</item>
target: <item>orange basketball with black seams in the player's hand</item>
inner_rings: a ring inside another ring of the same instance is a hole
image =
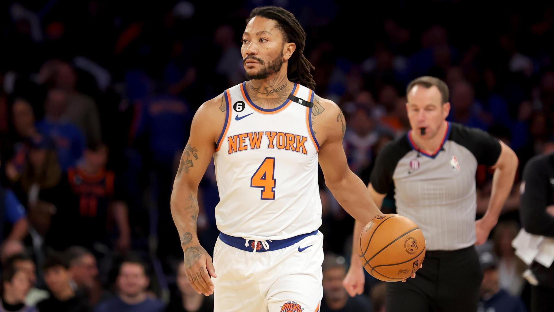
[[[425,257],[425,239],[412,220],[399,214],[384,214],[363,228],[358,255],[374,278],[399,281],[419,269]]]

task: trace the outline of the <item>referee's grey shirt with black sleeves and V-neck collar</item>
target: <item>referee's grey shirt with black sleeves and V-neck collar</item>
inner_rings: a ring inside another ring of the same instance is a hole
[[[377,156],[371,184],[386,194],[394,186],[397,212],[412,219],[427,250],[456,250],[475,244],[475,170],[492,166],[500,142],[483,130],[448,123],[434,154],[421,152],[411,132]]]

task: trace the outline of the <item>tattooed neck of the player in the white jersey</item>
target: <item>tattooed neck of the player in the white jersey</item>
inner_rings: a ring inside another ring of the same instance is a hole
[[[250,99],[263,108],[275,108],[285,102],[293,90],[294,84],[289,81],[286,72],[263,80],[250,80],[247,90]]]

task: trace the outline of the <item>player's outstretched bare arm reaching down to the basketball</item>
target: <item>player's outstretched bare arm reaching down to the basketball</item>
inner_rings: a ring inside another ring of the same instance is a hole
[[[337,104],[331,100],[317,98],[321,105],[320,114],[312,119],[317,139],[322,144],[319,149],[319,164],[325,177],[325,185],[331,190],[342,208],[362,224],[381,215],[362,180],[354,174],[346,162],[342,138],[346,130],[345,117]]]

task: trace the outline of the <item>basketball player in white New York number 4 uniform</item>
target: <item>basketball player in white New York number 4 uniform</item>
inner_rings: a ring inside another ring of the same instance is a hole
[[[247,82],[194,116],[171,211],[194,289],[215,311],[317,311],[322,298],[321,200],[327,187],[366,224],[380,212],[342,149],[345,118],[314,93],[305,33],[290,12],[256,8],[242,36]],[[197,189],[214,158],[221,234],[214,260],[198,243]],[[217,274],[216,274],[217,272]]]

